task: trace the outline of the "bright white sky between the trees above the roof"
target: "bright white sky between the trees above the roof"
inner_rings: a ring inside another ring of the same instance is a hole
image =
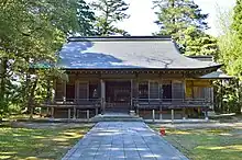
[[[90,0],[88,0],[90,1]],[[128,31],[131,35],[151,35],[158,30],[154,23],[156,15],[152,10],[153,0],[125,0],[130,3],[128,13],[130,19],[119,23],[118,26]],[[234,7],[235,0],[195,0],[204,13],[209,13],[208,23],[211,27],[208,33],[212,35],[218,34],[216,28],[218,8],[222,10],[230,10]]]

